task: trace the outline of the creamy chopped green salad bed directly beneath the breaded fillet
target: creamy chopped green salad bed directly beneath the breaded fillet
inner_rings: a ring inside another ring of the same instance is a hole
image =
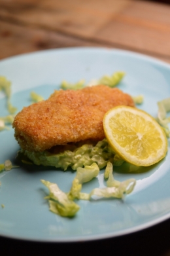
[[[56,147],[59,149],[59,147]],[[107,162],[119,166],[124,160],[120,156],[116,155],[110,147],[107,139],[99,141],[97,144],[92,141],[75,145],[66,145],[59,152],[34,152],[24,151],[21,149],[22,154],[27,156],[34,164],[43,166],[54,166],[56,168],[62,168],[67,170],[70,166],[73,170],[77,170],[78,167],[90,166],[93,162],[97,163],[99,169],[107,166]]]

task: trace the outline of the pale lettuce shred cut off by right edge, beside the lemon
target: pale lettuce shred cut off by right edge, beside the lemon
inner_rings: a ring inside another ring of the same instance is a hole
[[[162,126],[167,137],[170,137],[169,122],[170,117],[167,117],[167,113],[170,111],[170,98],[158,101],[158,117],[157,121]]]

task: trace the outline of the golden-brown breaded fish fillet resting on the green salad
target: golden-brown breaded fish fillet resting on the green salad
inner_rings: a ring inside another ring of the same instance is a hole
[[[16,115],[14,136],[28,151],[86,139],[99,141],[105,137],[103,116],[116,105],[134,107],[128,94],[105,85],[56,90],[48,100],[24,107]]]

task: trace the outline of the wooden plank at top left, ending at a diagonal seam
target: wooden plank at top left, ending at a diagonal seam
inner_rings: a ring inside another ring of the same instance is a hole
[[[12,9],[10,3],[1,2],[0,17],[3,19],[46,27],[70,35],[90,37],[98,29],[106,26],[120,10],[132,0],[44,0],[19,1],[18,8]],[[27,7],[27,8],[26,8]]]

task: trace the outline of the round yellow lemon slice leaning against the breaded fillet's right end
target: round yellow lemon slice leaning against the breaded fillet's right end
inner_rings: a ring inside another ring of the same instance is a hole
[[[103,119],[105,136],[118,155],[136,166],[150,166],[167,153],[167,137],[156,120],[133,107],[110,109]]]

